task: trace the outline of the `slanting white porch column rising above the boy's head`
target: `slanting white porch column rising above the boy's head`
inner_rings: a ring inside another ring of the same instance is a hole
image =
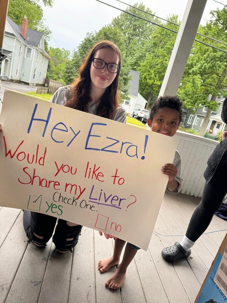
[[[188,0],[159,96],[176,95],[206,2]]]

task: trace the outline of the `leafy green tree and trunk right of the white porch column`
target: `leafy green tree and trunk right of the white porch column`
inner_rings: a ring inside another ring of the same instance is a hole
[[[206,25],[200,26],[199,32],[226,43],[227,9],[217,9],[212,11],[211,14],[213,19],[207,22]],[[199,40],[208,42],[206,38],[198,37]],[[220,48],[220,44],[217,42],[210,42],[209,40],[209,43]],[[221,48],[227,50],[224,45],[221,45]],[[184,107],[189,110],[192,110],[195,105],[207,108],[202,127],[199,131],[200,136],[203,136],[206,130],[211,112],[218,108],[218,102],[215,101],[216,98],[220,95],[227,95],[226,62],[226,53],[194,42],[178,95],[183,100]]]

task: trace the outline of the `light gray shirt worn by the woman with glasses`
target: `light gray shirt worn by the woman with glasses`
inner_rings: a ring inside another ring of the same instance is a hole
[[[58,90],[54,93],[54,95],[52,96],[50,102],[56,103],[56,104],[60,104],[60,105],[64,105],[65,102],[71,98],[72,91],[70,86],[64,86],[64,87],[60,87],[58,88]],[[98,107],[99,102],[95,103],[95,104],[90,104],[88,103],[88,113],[92,114],[92,115],[96,115],[97,113],[97,107]],[[122,122],[122,123],[126,123],[126,111],[123,108],[122,105],[119,105],[118,108],[116,109],[114,118],[114,121],[117,122]]]

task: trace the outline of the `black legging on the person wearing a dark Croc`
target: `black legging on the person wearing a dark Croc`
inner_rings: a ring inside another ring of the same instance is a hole
[[[205,183],[202,200],[192,214],[186,237],[195,242],[209,226],[214,213],[219,209],[227,192],[227,164],[216,169],[208,184]]]

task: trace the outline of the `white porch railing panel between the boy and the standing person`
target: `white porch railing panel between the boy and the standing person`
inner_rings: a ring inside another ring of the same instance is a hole
[[[180,140],[177,150],[181,155],[181,176],[184,180],[180,192],[202,197],[207,160],[219,142],[181,131],[177,131],[174,137]]]

